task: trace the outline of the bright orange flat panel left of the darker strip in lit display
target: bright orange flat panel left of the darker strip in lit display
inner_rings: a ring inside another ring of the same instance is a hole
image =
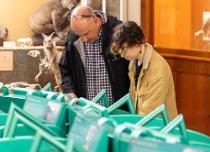
[[[191,0],[154,1],[154,45],[191,48]]]

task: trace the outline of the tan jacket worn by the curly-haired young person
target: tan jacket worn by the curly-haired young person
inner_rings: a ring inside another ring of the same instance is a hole
[[[174,82],[167,61],[146,43],[143,66],[135,87],[136,61],[129,65],[130,94],[138,114],[148,114],[165,104],[169,118],[177,116]]]

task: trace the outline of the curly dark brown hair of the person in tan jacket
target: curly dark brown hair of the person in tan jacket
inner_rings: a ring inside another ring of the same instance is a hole
[[[144,43],[144,32],[133,21],[126,21],[114,28],[112,36],[112,53],[120,54],[124,47],[132,47]]]

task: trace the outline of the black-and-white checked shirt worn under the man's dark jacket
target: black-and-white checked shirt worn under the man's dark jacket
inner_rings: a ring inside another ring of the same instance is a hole
[[[105,89],[110,101],[113,103],[111,84],[106,70],[102,52],[102,30],[98,39],[85,44],[85,73],[87,98],[93,99],[102,89]],[[99,104],[103,105],[102,102]]]

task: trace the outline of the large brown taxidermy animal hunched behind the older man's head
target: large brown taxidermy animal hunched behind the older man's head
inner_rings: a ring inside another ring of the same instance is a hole
[[[29,24],[32,31],[37,34],[56,32],[62,37],[62,30],[69,25],[70,10],[79,3],[80,0],[48,0],[30,17]]]

